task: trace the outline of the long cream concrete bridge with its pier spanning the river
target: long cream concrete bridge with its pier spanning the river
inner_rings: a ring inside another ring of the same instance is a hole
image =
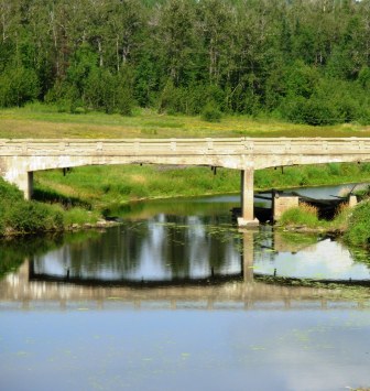
[[[84,165],[172,164],[227,167],[241,172],[240,225],[255,224],[254,170],[370,161],[364,138],[220,138],[122,140],[0,140],[0,175],[32,196],[33,172]]]

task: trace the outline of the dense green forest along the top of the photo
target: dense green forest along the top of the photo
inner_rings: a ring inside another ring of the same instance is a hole
[[[0,0],[0,107],[370,123],[370,0]]]

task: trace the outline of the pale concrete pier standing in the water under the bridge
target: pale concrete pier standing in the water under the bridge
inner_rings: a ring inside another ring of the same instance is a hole
[[[254,218],[253,184],[254,184],[254,169],[247,167],[242,170],[240,172],[241,217],[238,218],[239,227],[257,227],[259,225],[259,220]]]

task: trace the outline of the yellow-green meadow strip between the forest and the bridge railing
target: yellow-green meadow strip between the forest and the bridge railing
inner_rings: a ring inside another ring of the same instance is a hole
[[[199,116],[168,116],[135,109],[131,117],[102,112],[66,113],[31,104],[0,110],[0,138],[204,138],[204,137],[370,137],[370,127],[346,123],[312,127],[273,117],[224,116],[207,122]]]

